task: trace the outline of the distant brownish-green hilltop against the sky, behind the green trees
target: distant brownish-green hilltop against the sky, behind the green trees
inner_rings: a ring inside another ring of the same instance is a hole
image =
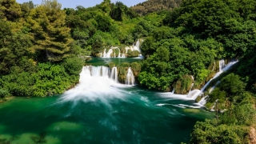
[[[146,2],[138,3],[131,8],[140,15],[146,15],[161,10],[172,10],[175,7],[180,6],[181,3],[182,0],[148,0]]]

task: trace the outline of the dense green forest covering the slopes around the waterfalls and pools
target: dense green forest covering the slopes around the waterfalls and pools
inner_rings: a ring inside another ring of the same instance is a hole
[[[0,98],[62,94],[78,82],[86,55],[143,38],[144,60],[121,64],[119,77],[132,66],[148,89],[186,94],[193,81],[200,89],[218,72],[218,60],[239,60],[207,98],[216,118],[197,122],[190,143],[249,143],[256,128],[256,2],[155,2],[62,9],[57,0],[0,0]]]

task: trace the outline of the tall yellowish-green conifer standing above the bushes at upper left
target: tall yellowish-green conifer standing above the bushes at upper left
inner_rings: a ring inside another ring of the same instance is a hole
[[[70,28],[66,26],[66,13],[57,0],[45,0],[30,12],[27,21],[34,46],[30,48],[39,61],[60,61],[70,50]]]

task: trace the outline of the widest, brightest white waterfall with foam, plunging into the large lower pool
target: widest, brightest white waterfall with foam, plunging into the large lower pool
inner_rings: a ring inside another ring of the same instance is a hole
[[[114,75],[112,79],[111,75]],[[84,102],[102,101],[108,105],[107,99],[125,97],[126,87],[117,82],[117,70],[110,71],[106,66],[84,66],[80,73],[79,84],[63,94],[62,101],[82,100]]]

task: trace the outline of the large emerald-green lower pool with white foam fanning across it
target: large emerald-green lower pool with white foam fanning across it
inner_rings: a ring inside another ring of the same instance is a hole
[[[213,117],[185,95],[97,74],[83,69],[78,86],[62,95],[1,103],[0,143],[180,143],[195,122]]]

